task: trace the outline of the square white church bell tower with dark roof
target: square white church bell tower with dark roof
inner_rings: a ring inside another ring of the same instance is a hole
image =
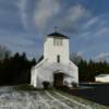
[[[69,37],[57,32],[47,35],[44,58],[48,59],[49,62],[68,63],[69,57]]]

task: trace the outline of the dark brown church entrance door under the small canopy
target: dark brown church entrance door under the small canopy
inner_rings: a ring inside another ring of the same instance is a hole
[[[63,86],[63,73],[53,74],[53,86],[55,87]]]

